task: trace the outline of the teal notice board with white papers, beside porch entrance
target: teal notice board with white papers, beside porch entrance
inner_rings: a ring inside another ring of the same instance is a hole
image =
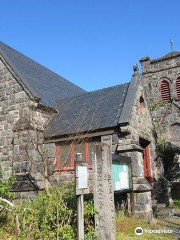
[[[131,189],[130,158],[116,156],[112,161],[113,190],[122,191]]]

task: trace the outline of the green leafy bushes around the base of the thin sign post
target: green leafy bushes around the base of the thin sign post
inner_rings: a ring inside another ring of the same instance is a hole
[[[16,209],[20,223],[18,239],[76,239],[76,202],[74,186],[71,184],[53,187],[49,195],[41,192],[34,200],[23,203]],[[84,203],[84,229],[87,240],[95,239],[95,214],[92,198],[88,196]]]

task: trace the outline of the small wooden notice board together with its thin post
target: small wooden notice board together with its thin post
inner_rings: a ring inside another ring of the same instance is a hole
[[[84,199],[83,195],[89,193],[88,163],[83,162],[82,153],[76,154],[75,162],[75,193],[77,195],[77,222],[78,240],[84,240]]]

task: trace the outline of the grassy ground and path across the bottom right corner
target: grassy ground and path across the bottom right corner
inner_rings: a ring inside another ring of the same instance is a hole
[[[180,212],[180,192],[174,192],[172,194],[174,202],[174,213]],[[143,233],[140,236],[137,236],[135,229],[137,227],[142,227],[149,230],[163,230],[170,229],[173,230],[173,234],[169,233]],[[166,240],[166,239],[180,239],[180,215],[169,216],[164,219],[153,219],[150,224],[141,221],[136,218],[124,217],[122,213],[116,213],[116,229],[117,229],[117,240],[138,240],[138,239],[147,239],[147,240]]]

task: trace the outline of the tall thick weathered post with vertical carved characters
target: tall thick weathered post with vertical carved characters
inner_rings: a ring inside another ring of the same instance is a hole
[[[103,136],[93,154],[94,205],[99,212],[96,232],[104,240],[116,239],[111,149],[112,137]]]

